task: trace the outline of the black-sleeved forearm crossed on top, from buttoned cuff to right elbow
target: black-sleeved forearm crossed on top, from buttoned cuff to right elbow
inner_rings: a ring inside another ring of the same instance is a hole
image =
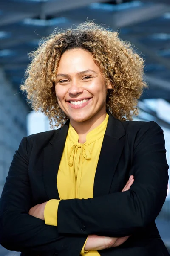
[[[154,198],[152,202],[147,198],[140,200],[135,192],[126,191],[100,198],[61,200],[58,230],[60,233],[128,236],[155,220],[164,199],[159,198],[159,203]]]

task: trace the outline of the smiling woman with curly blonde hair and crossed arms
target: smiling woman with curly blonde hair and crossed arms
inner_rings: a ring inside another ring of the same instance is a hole
[[[51,35],[32,56],[21,89],[62,128],[21,141],[0,243],[29,256],[168,256],[154,222],[167,195],[163,130],[132,121],[143,59],[93,22]]]

